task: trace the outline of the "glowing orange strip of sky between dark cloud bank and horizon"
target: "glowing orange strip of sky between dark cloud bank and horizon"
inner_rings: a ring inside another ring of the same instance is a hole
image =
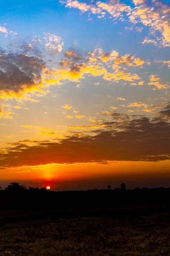
[[[98,163],[77,163],[77,164],[47,164],[40,166],[22,166],[17,168],[9,168],[0,171],[1,180],[6,183],[17,181],[30,186],[51,186],[54,189],[65,189],[67,186],[62,184],[74,183],[75,189],[83,180],[85,183],[92,182],[96,188],[105,187],[105,183],[115,180],[119,185],[119,181],[130,180],[134,186],[140,186],[141,180],[159,180],[170,177],[169,173],[170,161],[157,162],[110,162],[106,164]],[[164,170],[164,171],[161,171]],[[10,177],[9,177],[10,173]],[[160,174],[161,173],[161,174]],[[24,174],[24,175],[23,175]],[[118,181],[116,181],[118,180]],[[83,183],[82,183],[83,185]],[[144,186],[144,185],[142,185]],[[81,189],[81,187],[79,187]]]

